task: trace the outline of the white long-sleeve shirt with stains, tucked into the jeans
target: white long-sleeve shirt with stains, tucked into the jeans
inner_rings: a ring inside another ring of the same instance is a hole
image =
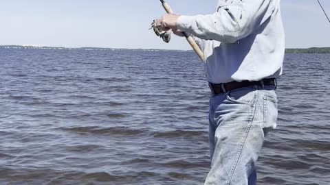
[[[197,37],[208,82],[258,81],[282,74],[280,1],[218,0],[214,14],[179,16],[177,28]]]

